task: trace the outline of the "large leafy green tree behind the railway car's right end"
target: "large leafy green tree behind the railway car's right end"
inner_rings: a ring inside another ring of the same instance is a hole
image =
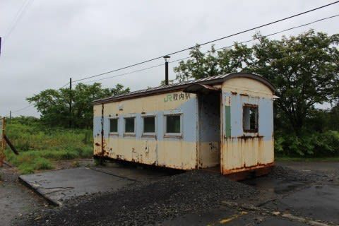
[[[275,131],[301,138],[309,133],[307,121],[316,106],[338,103],[339,35],[309,30],[281,40],[260,34],[252,46],[234,43],[231,49],[203,53],[198,47],[191,59],[174,68],[177,80],[218,76],[232,72],[258,73],[275,85]]]

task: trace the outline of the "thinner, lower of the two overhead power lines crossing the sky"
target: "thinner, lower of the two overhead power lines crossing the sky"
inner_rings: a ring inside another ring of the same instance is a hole
[[[285,29],[285,30],[280,30],[280,31],[278,31],[278,32],[270,33],[269,35],[261,35],[261,37],[270,37],[270,36],[272,36],[272,35],[278,35],[278,34],[280,34],[280,33],[282,33],[282,32],[286,32],[286,31],[288,31],[288,30],[294,30],[294,29],[297,29],[297,28],[302,28],[302,27],[304,27],[304,26],[311,25],[311,24],[314,24],[314,23],[318,23],[318,22],[321,22],[321,21],[323,21],[323,20],[328,20],[328,19],[335,18],[335,17],[338,17],[338,16],[339,16],[339,14],[334,15],[334,16],[328,16],[328,17],[326,17],[326,18],[321,18],[321,19],[319,19],[319,20],[314,20],[314,21],[312,21],[312,22],[304,23],[304,24],[302,24],[302,25],[298,25],[298,26],[295,26],[295,27],[292,27],[292,28],[287,28],[287,29]],[[243,42],[237,42],[237,44],[244,44],[244,43],[248,43],[248,42],[253,42],[253,41],[255,41],[255,40],[258,40],[258,38],[254,38],[254,39],[251,39],[251,40],[246,40],[246,41],[243,41]],[[215,50],[227,49],[227,48],[230,48],[230,47],[234,47],[234,44],[231,44],[231,45],[229,45],[229,46],[227,46],[227,47],[220,47],[220,48],[217,48],[217,49],[215,49]],[[208,53],[208,51],[207,51],[207,52],[203,52],[203,53],[206,54],[206,53]],[[169,61],[169,64],[175,63],[175,62],[177,62],[177,61],[182,61],[182,60],[184,60],[184,59],[189,59],[189,58],[192,58],[192,57],[184,57],[184,58],[181,58],[181,59],[176,59],[176,60],[174,60],[174,61]],[[105,77],[105,78],[99,78],[99,79],[96,79],[96,80],[85,81],[85,82],[83,82],[83,83],[93,83],[93,82],[97,82],[97,81],[106,80],[106,79],[109,79],[109,78],[116,78],[116,77],[120,77],[120,76],[126,76],[126,75],[129,75],[129,74],[131,74],[131,73],[136,73],[136,72],[140,72],[140,71],[146,71],[146,70],[148,70],[148,69],[154,69],[154,68],[157,68],[157,67],[163,66],[163,65],[164,65],[164,64],[157,64],[157,65],[155,65],[155,66],[150,66],[150,67],[147,67],[147,68],[145,68],[145,69],[138,69],[138,70],[136,70],[136,71],[129,71],[129,72],[127,72],[127,73],[121,73],[121,74],[118,74],[118,75],[116,75],[116,76],[109,76],[109,77]],[[79,82],[78,82],[78,83],[79,83]],[[67,83],[66,85],[68,85],[68,84],[69,84],[69,83]],[[66,86],[66,85],[64,85],[64,86]]]

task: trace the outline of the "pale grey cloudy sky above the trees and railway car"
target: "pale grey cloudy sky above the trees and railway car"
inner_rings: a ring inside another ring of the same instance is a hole
[[[70,77],[76,80],[160,57],[333,1],[1,0],[0,115],[28,106],[25,97],[59,88]],[[339,4],[335,4],[258,31],[266,35],[333,16],[338,10]],[[339,18],[333,18],[284,34],[296,35],[309,28],[333,34],[338,32],[338,23]],[[215,46],[249,40],[252,35],[254,32],[247,32],[215,42]],[[188,52],[183,52],[171,60],[186,56]],[[99,78],[162,63],[160,59]],[[175,65],[170,64],[171,68]],[[102,83],[105,87],[121,83],[138,90],[159,85],[164,70],[160,66]],[[175,77],[172,70],[169,76]],[[34,107],[14,115],[19,114],[39,116]]]

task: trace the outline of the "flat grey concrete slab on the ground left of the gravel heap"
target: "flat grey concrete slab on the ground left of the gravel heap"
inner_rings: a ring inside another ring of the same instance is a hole
[[[106,174],[87,167],[21,175],[19,179],[54,205],[63,201],[105,191],[117,191],[134,180]]]

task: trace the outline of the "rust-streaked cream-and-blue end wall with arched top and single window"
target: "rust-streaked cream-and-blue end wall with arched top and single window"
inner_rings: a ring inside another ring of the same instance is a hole
[[[273,93],[268,95],[265,85],[247,80],[234,78],[235,82],[230,80],[222,85],[224,117],[227,117],[227,96],[231,96],[232,103],[231,136],[224,138],[222,145],[222,174],[269,167],[274,162]],[[242,106],[245,103],[258,105],[258,133],[243,131]],[[224,126],[227,126],[226,119]]]

